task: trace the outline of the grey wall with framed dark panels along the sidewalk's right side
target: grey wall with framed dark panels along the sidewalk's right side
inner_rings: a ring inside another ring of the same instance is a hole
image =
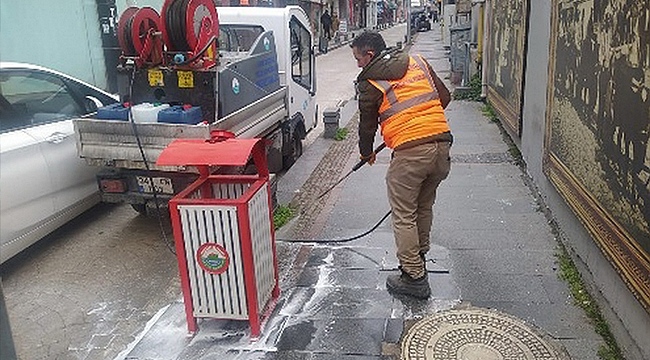
[[[626,358],[650,359],[650,0],[471,6],[487,102]]]

